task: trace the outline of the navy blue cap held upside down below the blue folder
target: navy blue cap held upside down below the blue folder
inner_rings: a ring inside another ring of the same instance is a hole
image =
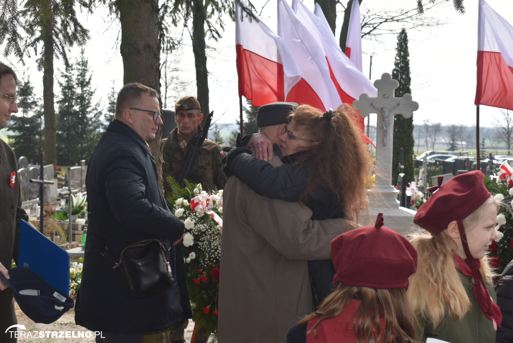
[[[10,279],[6,279],[0,274],[14,292],[19,308],[36,323],[53,323],[75,304],[69,296],[28,268],[11,269],[9,276]]]

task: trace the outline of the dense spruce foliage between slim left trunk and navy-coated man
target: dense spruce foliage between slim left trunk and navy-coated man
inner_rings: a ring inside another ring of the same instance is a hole
[[[58,104],[57,159],[73,165],[89,159],[105,128],[100,103],[92,104],[95,90],[91,72],[82,50],[80,60],[61,73],[61,97]]]

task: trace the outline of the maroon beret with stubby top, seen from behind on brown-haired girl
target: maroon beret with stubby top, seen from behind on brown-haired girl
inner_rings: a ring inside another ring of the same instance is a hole
[[[356,228],[331,241],[337,272],[333,281],[377,289],[408,287],[408,277],[417,271],[417,250],[406,237],[382,225],[380,213],[374,226]]]

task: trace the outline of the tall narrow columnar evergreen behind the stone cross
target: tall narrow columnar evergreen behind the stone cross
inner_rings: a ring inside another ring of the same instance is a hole
[[[398,35],[396,48],[396,61],[392,70],[392,79],[399,81],[399,88],[396,89],[396,97],[402,97],[405,93],[411,94],[410,89],[410,61],[408,52],[408,35],[402,29]],[[413,116],[404,118],[401,115],[393,116],[393,150],[392,150],[392,184],[397,184],[399,170],[399,149],[404,151],[404,173],[408,180],[413,178]]]

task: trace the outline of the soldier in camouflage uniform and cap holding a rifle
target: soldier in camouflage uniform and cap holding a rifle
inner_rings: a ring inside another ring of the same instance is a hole
[[[177,127],[169,137],[162,140],[162,174],[164,179],[168,176],[175,180],[180,176],[183,163],[190,147],[203,130],[200,126],[203,120],[200,103],[192,96],[182,97],[174,105],[174,120]],[[223,173],[221,147],[206,139],[198,150],[192,168],[186,177],[191,183],[201,183],[203,190],[223,189],[226,184],[226,176]],[[164,195],[171,194],[171,187],[167,180],[164,181]]]

